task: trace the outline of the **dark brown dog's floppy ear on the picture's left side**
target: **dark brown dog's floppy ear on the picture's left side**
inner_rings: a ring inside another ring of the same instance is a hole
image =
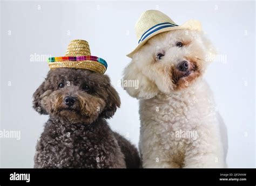
[[[36,89],[36,91],[33,94],[33,108],[39,112],[41,115],[48,115],[46,110],[43,108],[43,105],[41,104],[42,98],[41,96],[45,92],[45,81]]]

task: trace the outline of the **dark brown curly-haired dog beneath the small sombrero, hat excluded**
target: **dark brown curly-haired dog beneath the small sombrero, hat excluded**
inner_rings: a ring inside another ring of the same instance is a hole
[[[120,106],[107,75],[52,69],[33,98],[33,108],[50,115],[37,142],[35,168],[139,168],[136,147],[106,122]]]

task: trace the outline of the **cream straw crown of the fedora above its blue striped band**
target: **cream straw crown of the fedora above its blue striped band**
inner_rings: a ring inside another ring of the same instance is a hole
[[[176,25],[176,23],[174,23],[173,20],[163,12],[158,10],[145,11],[135,25],[135,32],[138,41],[147,30],[161,23],[171,23]]]

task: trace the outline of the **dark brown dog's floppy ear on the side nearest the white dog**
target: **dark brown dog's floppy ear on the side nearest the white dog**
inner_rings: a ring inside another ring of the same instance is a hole
[[[107,94],[106,106],[102,113],[100,114],[104,118],[111,118],[116,112],[117,108],[120,107],[120,97],[111,85],[109,85],[106,90],[105,94]]]

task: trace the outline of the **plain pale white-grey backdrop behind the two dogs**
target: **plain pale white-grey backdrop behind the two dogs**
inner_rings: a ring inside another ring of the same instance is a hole
[[[138,101],[118,80],[130,62],[126,54],[137,45],[134,24],[149,9],[163,11],[177,24],[200,20],[226,56],[208,67],[206,79],[228,128],[228,167],[255,167],[255,2],[12,1],[1,2],[1,130],[20,130],[21,140],[0,138],[1,168],[33,167],[48,119],[32,110],[31,102],[49,67],[30,61],[30,55],[63,56],[72,39],[89,41],[92,55],[107,61],[106,74],[122,100],[109,123],[138,145]]]

